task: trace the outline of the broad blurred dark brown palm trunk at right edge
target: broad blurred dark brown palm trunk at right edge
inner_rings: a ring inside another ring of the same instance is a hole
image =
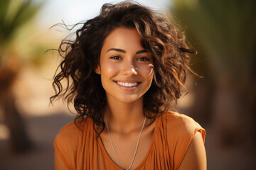
[[[246,87],[221,81],[215,96],[213,130],[223,147],[254,147],[255,95],[252,82]]]

